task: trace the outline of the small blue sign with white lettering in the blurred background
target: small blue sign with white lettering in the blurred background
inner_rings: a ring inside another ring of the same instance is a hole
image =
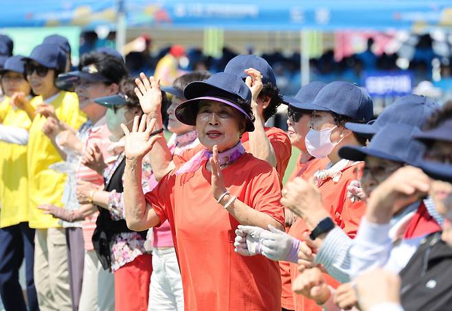
[[[412,80],[409,71],[370,71],[363,85],[371,96],[404,96],[411,94]]]

